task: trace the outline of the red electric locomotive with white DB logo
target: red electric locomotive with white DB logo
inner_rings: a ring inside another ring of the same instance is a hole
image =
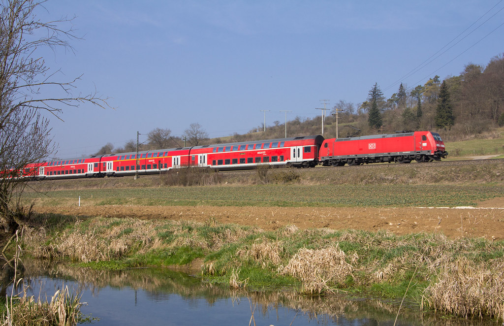
[[[376,162],[441,160],[448,153],[441,137],[430,131],[324,140],[319,161],[325,166]]]

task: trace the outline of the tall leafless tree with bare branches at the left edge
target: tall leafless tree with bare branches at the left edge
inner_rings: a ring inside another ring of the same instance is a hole
[[[110,107],[107,98],[96,91],[74,95],[76,82],[59,70],[45,65],[39,50],[64,47],[73,50],[69,41],[77,39],[72,19],[43,22],[36,9],[44,1],[0,1],[0,222],[7,232],[14,232],[26,212],[20,196],[28,178],[40,162],[54,151],[48,120],[41,112],[57,119],[65,106],[92,103]]]

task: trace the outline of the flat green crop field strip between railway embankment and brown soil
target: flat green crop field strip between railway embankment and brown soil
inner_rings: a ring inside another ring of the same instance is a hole
[[[249,185],[59,190],[33,194],[46,205],[476,206],[503,197],[501,186],[457,185]]]

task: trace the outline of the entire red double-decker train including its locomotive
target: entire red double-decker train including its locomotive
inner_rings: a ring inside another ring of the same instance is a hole
[[[259,165],[343,166],[409,163],[413,159],[423,162],[440,160],[446,155],[441,137],[428,131],[340,139],[316,135],[40,162],[27,166],[22,175],[37,179],[117,177],[160,174],[182,167],[240,170]]]

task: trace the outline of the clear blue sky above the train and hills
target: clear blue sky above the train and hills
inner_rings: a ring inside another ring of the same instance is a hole
[[[76,91],[96,87],[116,107],[82,104],[65,108],[64,122],[51,118],[62,158],[107,142],[122,147],[137,131],[179,136],[191,123],[210,137],[246,133],[263,123],[261,110],[270,110],[267,125],[283,123],[284,110],[292,111],[287,120],[312,118],[321,99],[327,107],[340,99],[359,105],[375,82],[390,97],[401,82],[411,88],[458,75],[504,51],[502,0],[49,0],[44,7],[41,18],[75,15],[83,38],[72,41],[75,53],[42,52],[46,64],[68,78],[84,74]]]

